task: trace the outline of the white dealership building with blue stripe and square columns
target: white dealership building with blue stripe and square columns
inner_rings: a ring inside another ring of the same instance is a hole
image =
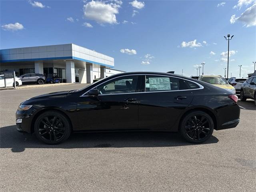
[[[114,58],[76,44],[0,50],[0,74],[39,73],[48,78],[58,76],[67,83],[92,83],[96,78],[123,72],[113,68]]]

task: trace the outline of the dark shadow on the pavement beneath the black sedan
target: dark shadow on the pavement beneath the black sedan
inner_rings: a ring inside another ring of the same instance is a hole
[[[203,144],[217,143],[211,136]],[[170,132],[104,132],[74,133],[65,142],[47,145],[34,134],[19,133],[16,125],[0,128],[0,148],[23,152],[26,148],[123,148],[123,147],[175,147],[196,145],[186,142],[178,133]]]

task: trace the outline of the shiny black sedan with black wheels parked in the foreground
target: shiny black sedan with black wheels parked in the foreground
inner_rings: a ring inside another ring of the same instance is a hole
[[[16,112],[19,131],[58,144],[72,132],[169,131],[189,142],[240,121],[237,96],[211,84],[170,73],[129,72],[80,90],[30,98]]]

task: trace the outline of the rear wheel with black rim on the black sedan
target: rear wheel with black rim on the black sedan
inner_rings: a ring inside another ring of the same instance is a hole
[[[202,143],[210,138],[214,122],[210,115],[203,111],[186,114],[180,123],[180,134],[190,143]]]

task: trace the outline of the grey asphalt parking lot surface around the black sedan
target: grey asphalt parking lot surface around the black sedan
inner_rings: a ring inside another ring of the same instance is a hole
[[[256,107],[204,144],[163,132],[80,133],[59,145],[16,131],[20,102],[70,84],[0,91],[1,191],[255,191]]]

